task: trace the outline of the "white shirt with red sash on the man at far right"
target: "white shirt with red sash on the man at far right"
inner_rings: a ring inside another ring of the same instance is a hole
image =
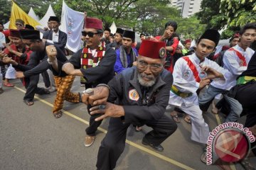
[[[235,45],[233,48],[245,57],[246,64],[250,62],[250,59],[255,52],[250,47],[243,50],[239,45]],[[241,61],[235,51],[227,50],[223,55],[223,68],[228,69],[228,71],[231,72],[230,78],[225,84],[219,84],[217,81],[213,81],[211,85],[218,89],[230,90],[235,86],[237,77],[247,69],[247,66],[241,66],[240,62]]]

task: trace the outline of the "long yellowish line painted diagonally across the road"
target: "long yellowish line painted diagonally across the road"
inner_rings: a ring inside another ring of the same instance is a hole
[[[20,89],[20,88],[18,88],[18,87],[16,87],[16,86],[14,86],[14,88],[17,89],[18,91],[22,91],[24,94],[26,93],[26,91],[24,91],[23,89]],[[45,100],[43,100],[42,98],[39,98],[38,96],[35,96],[35,98],[38,99],[38,101],[41,101],[41,102],[45,103],[46,105],[53,107],[53,104],[49,103],[48,101],[45,101]],[[69,116],[72,117],[72,118],[75,118],[76,120],[79,120],[79,121],[82,122],[82,123],[85,123],[86,125],[89,125],[89,122],[88,122],[87,120],[84,120],[84,119],[82,119],[82,118],[80,118],[80,117],[78,117],[78,116],[76,116],[76,115],[73,115],[72,113],[69,113],[68,111],[64,111],[64,110],[63,110],[63,113],[65,113],[66,115],[69,115]],[[102,132],[104,132],[104,133],[107,133],[107,130],[105,130],[105,129],[103,129],[103,128],[100,128],[100,127],[99,127],[98,130],[100,130],[100,131],[102,131]],[[180,162],[177,162],[177,161],[175,161],[174,159],[170,159],[169,157],[166,157],[166,156],[164,156],[164,155],[162,155],[162,154],[159,154],[159,153],[157,153],[157,152],[154,152],[154,151],[151,150],[151,149],[147,149],[146,147],[143,147],[142,145],[138,145],[138,144],[136,144],[136,143],[134,143],[134,142],[132,142],[132,141],[130,141],[130,140],[126,140],[125,142],[126,142],[128,145],[131,145],[131,146],[133,146],[133,147],[136,147],[137,149],[140,149],[140,150],[142,150],[142,151],[144,151],[144,152],[147,152],[147,153],[153,155],[154,157],[158,157],[159,159],[162,159],[162,160],[164,160],[164,161],[166,161],[166,162],[169,162],[169,163],[171,163],[171,164],[174,164],[174,165],[176,165],[176,166],[178,166],[178,167],[180,167],[180,168],[182,168],[182,169],[195,170],[195,169],[193,169],[193,168],[191,168],[191,167],[189,167],[189,166],[186,166],[185,164],[181,164]]]

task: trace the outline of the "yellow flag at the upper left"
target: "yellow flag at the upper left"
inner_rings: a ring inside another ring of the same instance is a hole
[[[16,19],[23,20],[25,24],[29,24],[33,26],[33,28],[36,28],[36,26],[41,26],[40,23],[31,18],[31,16],[28,16],[28,14],[26,14],[20,7],[18,7],[17,4],[14,3],[14,1],[12,1],[12,4],[13,5],[11,7],[11,19],[9,29],[16,29]]]

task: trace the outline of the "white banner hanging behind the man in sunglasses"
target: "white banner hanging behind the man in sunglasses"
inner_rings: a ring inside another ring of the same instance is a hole
[[[84,18],[84,13],[74,11],[63,1],[60,30],[68,35],[66,47],[73,52],[77,52],[81,48]]]

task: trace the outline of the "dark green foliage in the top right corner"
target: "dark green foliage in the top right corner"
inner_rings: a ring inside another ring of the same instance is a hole
[[[213,5],[214,4],[214,5]],[[230,38],[241,26],[256,21],[255,0],[203,0],[202,11],[196,13],[207,28],[221,29],[222,38]]]

